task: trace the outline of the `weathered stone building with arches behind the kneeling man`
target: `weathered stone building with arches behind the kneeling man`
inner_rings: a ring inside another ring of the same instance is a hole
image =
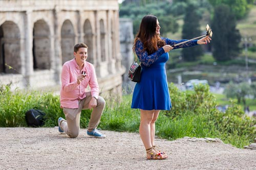
[[[101,93],[121,95],[118,0],[0,1],[0,82],[12,89],[60,85],[75,43],[89,46]]]

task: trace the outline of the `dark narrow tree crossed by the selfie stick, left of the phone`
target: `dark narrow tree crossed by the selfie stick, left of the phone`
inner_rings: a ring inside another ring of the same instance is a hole
[[[191,39],[200,36],[200,19],[195,5],[191,4],[187,7],[184,17],[184,25],[182,29],[182,39]],[[182,56],[185,61],[195,61],[203,54],[201,45],[193,48],[182,48]]]

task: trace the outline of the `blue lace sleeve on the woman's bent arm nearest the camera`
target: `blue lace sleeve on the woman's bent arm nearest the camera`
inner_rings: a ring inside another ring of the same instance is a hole
[[[145,66],[150,66],[153,64],[157,59],[164,54],[163,48],[159,48],[158,51],[155,53],[148,55],[146,51],[143,51],[143,43],[138,40],[135,44],[135,53],[138,56],[140,62]]]

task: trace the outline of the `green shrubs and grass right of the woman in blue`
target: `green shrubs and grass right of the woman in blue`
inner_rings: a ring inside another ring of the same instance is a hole
[[[165,117],[159,116],[159,136],[172,140],[184,136],[218,137],[239,148],[253,142],[256,121],[244,115],[236,100],[231,100],[223,113],[216,108],[216,99],[207,85],[182,92],[170,84],[169,92],[173,108],[164,112]]]

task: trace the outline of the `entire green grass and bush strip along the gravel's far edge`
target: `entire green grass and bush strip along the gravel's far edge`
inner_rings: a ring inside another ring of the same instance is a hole
[[[216,108],[223,96],[211,94],[208,86],[198,86],[195,91],[184,92],[174,84],[169,84],[169,91],[173,108],[160,112],[156,122],[158,137],[168,140],[184,136],[218,137],[238,148],[253,142],[256,132],[252,126],[256,121],[244,117],[242,108],[236,103],[227,103],[230,107],[224,114]],[[27,127],[25,113],[34,107],[46,113],[44,127],[57,126],[57,118],[65,117],[59,107],[59,96],[52,93],[20,90],[11,92],[8,86],[0,88],[0,93],[0,127]],[[131,100],[132,95],[124,95],[120,103],[113,104],[107,100],[98,128],[138,133],[140,112],[139,109],[131,109]],[[81,128],[87,128],[90,115],[91,110],[82,111]]]

